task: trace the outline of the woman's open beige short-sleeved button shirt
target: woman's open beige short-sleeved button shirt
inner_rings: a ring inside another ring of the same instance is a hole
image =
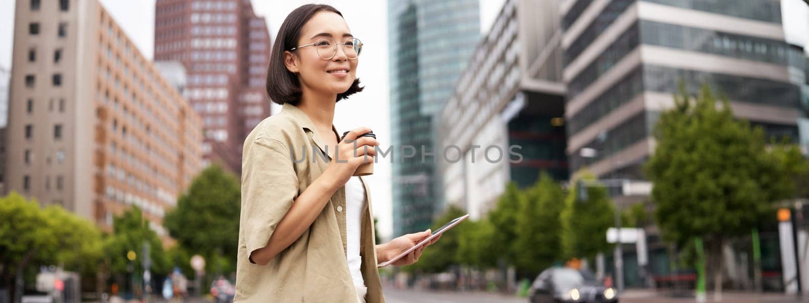
[[[332,132],[337,136],[334,126]],[[358,301],[346,261],[345,187],[335,191],[309,229],[269,263],[261,266],[248,259],[253,250],[267,245],[294,199],[326,170],[334,146],[325,149],[309,117],[290,104],[261,121],[244,141],[236,302]],[[366,191],[360,228],[366,301],[384,302],[371,195],[366,180],[360,179]]]

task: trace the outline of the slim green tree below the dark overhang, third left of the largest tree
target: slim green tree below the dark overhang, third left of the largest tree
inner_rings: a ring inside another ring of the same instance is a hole
[[[523,191],[519,190],[516,183],[510,182],[506,184],[506,190],[498,199],[497,205],[489,212],[489,220],[498,231],[494,234],[493,243],[500,247],[499,259],[505,264],[514,264],[515,254],[511,246],[519,233],[517,215],[524,200]]]

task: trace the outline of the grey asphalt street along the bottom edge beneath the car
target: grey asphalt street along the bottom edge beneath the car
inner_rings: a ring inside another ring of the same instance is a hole
[[[388,303],[483,303],[483,302],[506,302],[506,303],[526,303],[527,298],[493,294],[489,292],[436,292],[416,289],[396,289],[385,288],[385,301]],[[693,298],[666,297],[663,294],[646,290],[629,290],[620,297],[622,303],[687,303],[694,302]],[[708,294],[708,301],[712,301],[713,295]],[[809,302],[809,297],[798,300],[795,296],[786,296],[773,293],[753,293],[753,292],[726,292],[722,294],[722,302],[732,303],[797,303]]]

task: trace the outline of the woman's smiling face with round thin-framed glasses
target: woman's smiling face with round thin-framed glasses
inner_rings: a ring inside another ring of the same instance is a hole
[[[324,38],[342,43],[351,38],[348,24],[340,16],[331,11],[320,11],[303,25],[298,45],[319,42]],[[328,55],[326,55],[328,57]],[[286,69],[298,74],[303,91],[313,90],[318,94],[341,94],[349,90],[357,73],[358,59],[349,60],[343,45],[338,45],[334,57],[324,60],[317,53],[317,45],[286,51],[284,53]]]

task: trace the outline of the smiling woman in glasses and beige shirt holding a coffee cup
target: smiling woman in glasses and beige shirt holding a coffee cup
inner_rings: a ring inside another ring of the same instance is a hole
[[[360,137],[370,128],[341,141],[332,125],[335,103],[362,91],[361,50],[332,6],[300,6],[282,23],[267,92],[283,109],[244,141],[235,301],[383,302],[377,263],[430,235],[374,241],[368,186],[352,175],[379,142]]]

